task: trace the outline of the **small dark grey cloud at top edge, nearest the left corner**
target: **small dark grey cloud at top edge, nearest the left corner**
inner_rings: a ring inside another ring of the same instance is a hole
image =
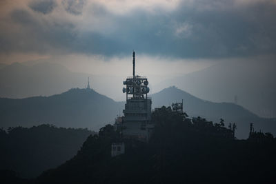
[[[57,6],[54,0],[35,0],[31,1],[29,7],[32,10],[47,14],[52,12],[52,10]]]

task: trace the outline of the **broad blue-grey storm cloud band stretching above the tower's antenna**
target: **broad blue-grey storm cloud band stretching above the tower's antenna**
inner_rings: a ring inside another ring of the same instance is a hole
[[[78,23],[52,23],[30,12],[15,10],[12,20],[22,26],[22,47],[8,39],[6,49],[76,52],[114,56],[135,49],[178,58],[244,57],[276,53],[276,6],[270,1],[234,5],[233,1],[184,2],[173,11],[154,13],[137,8],[114,14],[94,3],[86,19],[99,19],[81,30]],[[63,1],[66,11],[81,16],[84,1]],[[108,21],[106,21],[108,20]],[[105,22],[106,21],[106,22]],[[105,25],[106,24],[106,25]],[[109,25],[110,24],[110,25]],[[101,28],[102,26],[102,28]],[[98,28],[100,27],[100,28]],[[4,33],[5,34],[5,33]],[[7,37],[5,38],[7,40]]]

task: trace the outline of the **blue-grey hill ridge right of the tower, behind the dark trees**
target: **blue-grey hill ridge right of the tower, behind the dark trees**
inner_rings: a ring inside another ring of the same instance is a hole
[[[189,116],[201,116],[210,121],[218,122],[220,118],[228,123],[237,123],[237,138],[246,139],[249,133],[249,123],[255,123],[255,130],[276,134],[276,121],[262,119],[256,114],[234,103],[213,103],[204,101],[175,87],[166,88],[152,94],[152,106],[161,107],[173,102],[184,100],[184,110]]]

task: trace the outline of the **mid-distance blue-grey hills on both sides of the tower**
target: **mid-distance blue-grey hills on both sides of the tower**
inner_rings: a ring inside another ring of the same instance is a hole
[[[246,139],[249,123],[255,123],[255,130],[276,133],[273,119],[262,119],[233,103],[204,101],[175,87],[152,94],[152,109],[184,99],[184,110],[192,116],[201,116],[209,121],[237,123],[237,137]],[[30,127],[50,123],[60,127],[88,127],[99,130],[108,123],[114,123],[122,115],[124,102],[116,102],[95,90],[71,89],[53,96],[35,96],[26,99],[0,99],[0,126]]]

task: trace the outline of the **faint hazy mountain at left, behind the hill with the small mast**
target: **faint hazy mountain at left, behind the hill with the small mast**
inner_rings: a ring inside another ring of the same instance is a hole
[[[59,63],[37,61],[0,67],[0,97],[21,99],[59,94],[70,88],[85,87],[88,76],[90,86],[101,94],[121,96],[124,77],[72,72]]]

